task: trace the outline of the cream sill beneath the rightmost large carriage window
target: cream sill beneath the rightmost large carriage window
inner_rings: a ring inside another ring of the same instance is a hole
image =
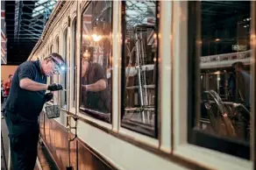
[[[253,168],[250,160],[240,159],[196,145],[183,144],[175,146],[174,155],[211,169],[252,170]]]

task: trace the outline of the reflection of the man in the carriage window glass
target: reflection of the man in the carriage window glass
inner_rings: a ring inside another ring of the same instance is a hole
[[[90,62],[93,47],[82,54],[82,103],[85,108],[110,113],[110,94],[103,67]]]

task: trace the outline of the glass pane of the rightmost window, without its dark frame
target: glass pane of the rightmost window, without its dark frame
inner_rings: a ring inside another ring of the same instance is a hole
[[[201,114],[196,113],[196,128],[248,147],[252,114],[250,6],[250,2],[202,1],[201,32],[196,32],[201,36],[197,48],[201,53]]]

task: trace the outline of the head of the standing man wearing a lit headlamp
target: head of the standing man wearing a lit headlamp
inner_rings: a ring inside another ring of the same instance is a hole
[[[41,61],[41,68],[46,76],[52,76],[53,74],[59,74],[61,69],[64,68],[65,61],[60,54],[51,53],[48,57]]]

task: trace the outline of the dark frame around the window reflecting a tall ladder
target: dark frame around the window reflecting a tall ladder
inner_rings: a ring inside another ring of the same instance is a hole
[[[126,35],[126,18],[125,18],[125,1],[122,1],[122,13],[121,13],[121,34],[122,35]],[[125,109],[125,105],[124,105],[124,101],[125,101],[125,93],[124,90],[125,89],[125,82],[126,82],[126,76],[125,76],[125,68],[126,68],[126,57],[125,56],[125,52],[126,52],[126,47],[125,47],[125,36],[122,36],[122,47],[121,47],[121,117],[120,117],[120,126],[124,129],[128,129],[130,131],[134,131],[134,132],[138,132],[140,134],[146,135],[148,137],[153,137],[153,138],[159,138],[159,118],[160,118],[160,106],[158,103],[158,100],[160,99],[160,78],[159,78],[159,74],[160,74],[160,67],[159,67],[159,59],[160,59],[160,39],[159,39],[159,33],[160,33],[160,18],[158,18],[158,14],[160,14],[160,2],[156,2],[156,12],[155,12],[155,33],[156,33],[156,39],[157,39],[157,47],[156,47],[156,63],[155,63],[155,67],[156,67],[156,76],[155,76],[155,96],[156,99],[154,100],[154,106],[155,106],[155,119],[154,119],[154,130],[149,130],[149,132],[147,132],[148,130],[145,130],[145,128],[143,127],[144,124],[136,124],[136,123],[132,123],[128,120],[123,120],[124,117],[124,109]],[[129,125],[132,124],[132,125]],[[134,127],[135,125],[135,127]],[[138,130],[136,128],[136,126],[138,126],[139,128],[142,128],[142,130]]]

